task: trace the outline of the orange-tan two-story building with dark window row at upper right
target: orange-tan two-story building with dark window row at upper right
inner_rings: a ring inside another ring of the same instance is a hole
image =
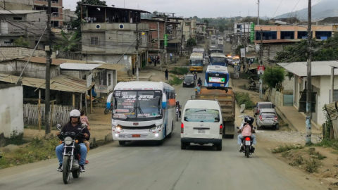
[[[332,30],[332,25],[313,25],[312,37],[317,40],[327,39],[332,37]],[[277,52],[283,51],[284,46],[301,42],[308,36],[307,25],[258,25],[255,26],[255,33],[257,49],[263,44],[263,64],[270,63]]]

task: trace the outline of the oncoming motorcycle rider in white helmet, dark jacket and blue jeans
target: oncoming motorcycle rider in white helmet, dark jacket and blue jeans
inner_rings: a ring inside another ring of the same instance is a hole
[[[82,123],[80,121],[80,116],[81,113],[79,110],[72,110],[70,111],[69,114],[69,122],[67,122],[63,128],[61,129],[61,132],[65,133],[65,132],[75,132],[75,134],[78,134],[81,132],[82,129]],[[84,128],[82,130],[82,133],[84,135],[84,139],[89,140],[90,138],[90,132],[88,130],[88,128]],[[56,134],[56,136],[58,136],[58,134],[60,134],[60,132],[58,132]],[[80,161],[80,171],[81,172],[85,172],[85,168],[84,168],[84,163],[86,161],[86,157],[87,157],[87,147],[84,144],[84,139],[80,138],[78,139],[79,142],[78,144],[80,145],[80,155],[81,155],[81,159]],[[63,144],[60,144],[59,146],[56,146],[56,156],[58,157],[58,163],[59,163],[59,167],[58,167],[58,172],[62,172],[62,162],[63,162]]]

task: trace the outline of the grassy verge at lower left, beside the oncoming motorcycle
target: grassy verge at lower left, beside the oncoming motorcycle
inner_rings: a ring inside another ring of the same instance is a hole
[[[0,168],[4,169],[14,165],[23,165],[55,158],[55,148],[58,144],[58,138],[46,140],[36,137],[24,148],[15,151],[6,151],[5,149],[3,152],[0,152],[0,155],[3,157],[0,159]]]

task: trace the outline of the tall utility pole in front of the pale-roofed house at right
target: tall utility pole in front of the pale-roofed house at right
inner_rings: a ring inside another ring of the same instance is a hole
[[[306,85],[306,144],[311,144],[311,115],[312,115],[312,108],[311,108],[311,96],[312,96],[312,83],[311,83],[311,0],[308,0],[308,75],[306,77],[307,85]]]

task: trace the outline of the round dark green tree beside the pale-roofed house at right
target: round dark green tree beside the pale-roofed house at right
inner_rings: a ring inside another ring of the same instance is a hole
[[[284,81],[284,69],[277,67],[266,67],[263,75],[263,82],[270,88],[280,87],[280,84]]]

